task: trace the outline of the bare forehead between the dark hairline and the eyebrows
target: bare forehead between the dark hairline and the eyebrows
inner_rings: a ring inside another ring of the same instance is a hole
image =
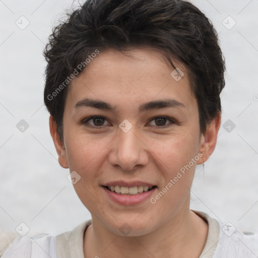
[[[100,51],[70,83],[68,101],[75,106],[84,97],[91,97],[113,101],[114,105],[119,105],[115,99],[120,104],[127,101],[140,105],[146,100],[171,97],[193,104],[187,71],[180,62],[173,63],[177,71],[168,66],[164,55],[151,48]]]

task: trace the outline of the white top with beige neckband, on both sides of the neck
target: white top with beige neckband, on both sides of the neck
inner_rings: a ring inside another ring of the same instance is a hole
[[[200,258],[258,257],[258,234],[241,232],[233,225],[218,222],[206,213],[194,212],[209,225],[207,241]],[[0,257],[84,258],[83,237],[90,224],[91,220],[88,220],[73,231],[58,236],[47,234],[36,237],[18,236],[14,241],[11,240],[13,235],[8,238],[2,233],[0,234]]]

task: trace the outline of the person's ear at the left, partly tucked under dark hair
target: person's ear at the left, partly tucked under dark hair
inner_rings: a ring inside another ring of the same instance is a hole
[[[58,155],[58,162],[61,167],[63,168],[69,168],[68,162],[67,162],[67,155],[66,155],[66,149],[63,147],[63,143],[60,140],[60,137],[56,130],[56,123],[54,121],[53,116],[50,115],[49,117],[49,129],[50,134],[54,142],[54,147]]]

